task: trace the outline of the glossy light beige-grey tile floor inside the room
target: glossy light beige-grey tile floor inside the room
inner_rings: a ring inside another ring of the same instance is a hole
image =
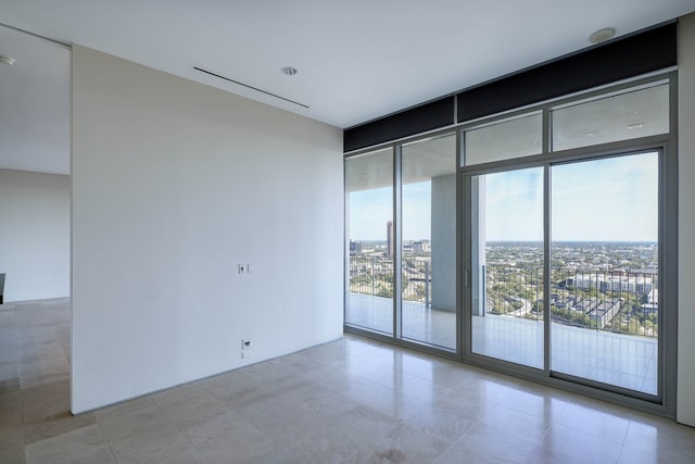
[[[72,416],[67,321],[66,301],[0,305],[3,464],[695,456],[695,429],[672,421],[349,336]]]

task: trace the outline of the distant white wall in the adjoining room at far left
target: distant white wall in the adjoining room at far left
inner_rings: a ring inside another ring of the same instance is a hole
[[[0,170],[4,301],[70,296],[70,177]]]

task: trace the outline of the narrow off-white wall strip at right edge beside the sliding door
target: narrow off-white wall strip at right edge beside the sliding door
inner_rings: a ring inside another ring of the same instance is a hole
[[[695,14],[679,20],[679,312],[677,419],[695,426]]]

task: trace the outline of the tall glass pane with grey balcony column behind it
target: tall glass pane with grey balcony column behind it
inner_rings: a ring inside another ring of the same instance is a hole
[[[456,136],[403,147],[402,337],[456,349]]]

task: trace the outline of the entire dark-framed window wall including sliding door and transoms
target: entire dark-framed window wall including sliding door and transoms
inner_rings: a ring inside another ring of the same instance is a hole
[[[672,407],[673,88],[635,79],[351,153],[346,329]]]

